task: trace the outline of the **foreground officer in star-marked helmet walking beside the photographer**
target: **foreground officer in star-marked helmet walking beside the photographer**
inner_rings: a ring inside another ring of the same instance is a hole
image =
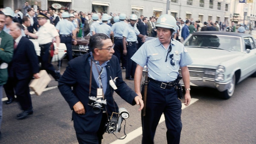
[[[187,65],[192,63],[184,45],[171,38],[176,20],[168,14],[161,15],[157,22],[158,38],[144,43],[131,58],[136,67],[135,92],[144,96],[144,86],[140,93],[142,69],[148,67],[149,84],[147,87],[146,115],[142,116],[142,144],[154,143],[154,135],[159,119],[164,113],[167,127],[168,144],[178,144],[181,136],[181,101],[178,99],[175,81],[179,68],[185,85],[185,105],[189,105],[190,79]]]

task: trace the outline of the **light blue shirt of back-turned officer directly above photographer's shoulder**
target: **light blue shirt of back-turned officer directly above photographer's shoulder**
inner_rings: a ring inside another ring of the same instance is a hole
[[[111,30],[114,32],[114,37],[123,38],[123,31],[127,29],[129,25],[124,21],[115,22],[111,27]]]

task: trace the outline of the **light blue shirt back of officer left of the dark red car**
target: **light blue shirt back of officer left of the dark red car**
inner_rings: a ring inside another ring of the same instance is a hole
[[[69,35],[72,34],[73,30],[75,30],[75,26],[72,22],[64,19],[56,24],[56,29],[59,30],[59,34]]]

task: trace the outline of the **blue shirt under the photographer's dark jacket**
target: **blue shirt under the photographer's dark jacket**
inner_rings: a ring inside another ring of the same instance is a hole
[[[91,57],[88,58],[88,61],[89,61],[90,66],[91,66],[91,58],[93,59],[92,52],[90,52],[90,56]],[[99,72],[101,71],[101,68],[102,68],[101,83],[102,83],[102,87],[103,87],[103,92],[105,94],[105,92],[107,90],[107,69],[106,69],[106,66],[107,66],[107,63],[109,62],[109,60],[104,62],[101,65],[100,65],[100,63],[98,61],[95,61],[95,60],[93,60],[93,61],[95,62],[95,64],[94,64],[94,62],[92,62],[91,71],[93,73],[93,77],[94,77],[98,87],[100,87],[100,83],[99,83],[99,79],[98,79],[99,78]]]

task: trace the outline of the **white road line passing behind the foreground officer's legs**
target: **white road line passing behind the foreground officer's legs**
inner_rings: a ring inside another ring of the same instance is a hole
[[[199,99],[191,98],[190,104],[188,106],[190,106],[191,104],[195,103],[198,100]],[[185,104],[182,103],[181,109],[183,110],[184,108],[186,108],[186,106],[185,106]],[[162,114],[162,116],[159,120],[159,123],[162,123],[163,121],[165,121],[164,114]],[[110,144],[126,144],[127,142],[130,142],[131,140],[135,139],[136,137],[138,137],[140,135],[142,135],[142,127],[141,126],[139,128],[137,128],[136,130],[133,130],[132,132],[128,133],[125,139],[117,139],[114,142],[111,142]],[[121,138],[123,138],[123,137],[121,137]]]

